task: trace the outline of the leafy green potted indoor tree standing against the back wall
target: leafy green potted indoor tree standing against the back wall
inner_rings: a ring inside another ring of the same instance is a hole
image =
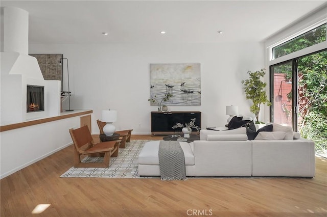
[[[250,111],[255,115],[256,123],[263,123],[259,121],[260,105],[267,104],[271,105],[270,101],[266,95],[266,86],[267,84],[262,82],[261,78],[265,76],[265,69],[260,71],[247,72],[250,78],[242,80],[244,85],[243,89],[245,92],[246,99],[252,100],[253,104],[250,106]]]

